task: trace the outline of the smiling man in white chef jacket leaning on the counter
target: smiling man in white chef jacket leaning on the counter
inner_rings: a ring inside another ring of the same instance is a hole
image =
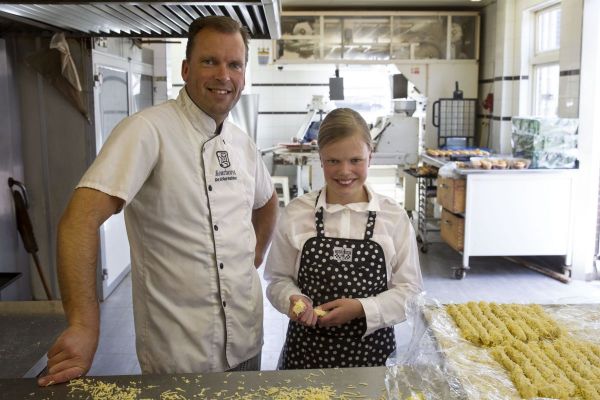
[[[125,207],[142,373],[259,369],[258,267],[277,196],[248,135],[228,121],[245,84],[248,33],[227,17],[189,29],[177,100],[123,120],[60,221],[68,327],[40,385],[85,374],[98,345],[98,228]]]

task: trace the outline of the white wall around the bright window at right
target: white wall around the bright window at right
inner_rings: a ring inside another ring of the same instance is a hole
[[[546,0],[506,0],[496,2],[483,11],[482,42],[486,48],[482,51],[479,91],[483,97],[493,87],[491,147],[496,151],[511,151],[510,118],[531,113],[531,76],[524,54],[530,39],[531,21],[527,12],[550,3]],[[599,122],[597,112],[593,110],[597,109],[600,101],[596,78],[600,71],[597,55],[600,51],[599,3],[597,0],[561,1],[558,114],[580,119],[573,253],[573,276],[576,279],[595,277],[600,140],[594,134],[599,129]],[[487,48],[492,43],[494,51]],[[490,82],[492,79],[493,83]]]

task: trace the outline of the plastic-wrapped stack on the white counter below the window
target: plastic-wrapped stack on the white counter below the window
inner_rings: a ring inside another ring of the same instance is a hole
[[[531,159],[531,168],[574,168],[578,124],[575,118],[515,117],[513,155]]]

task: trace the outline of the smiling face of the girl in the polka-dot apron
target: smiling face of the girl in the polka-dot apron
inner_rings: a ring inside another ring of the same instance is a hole
[[[319,150],[330,204],[368,201],[364,183],[371,151],[359,133],[330,142]]]

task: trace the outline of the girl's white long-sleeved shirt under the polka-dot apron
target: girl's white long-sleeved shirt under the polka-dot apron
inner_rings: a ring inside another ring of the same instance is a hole
[[[300,256],[304,243],[317,235],[315,212],[323,207],[327,237],[362,240],[368,211],[377,213],[372,240],[383,248],[388,290],[358,299],[367,320],[364,336],[406,319],[406,300],[423,289],[415,233],[406,212],[396,201],[373,192],[369,186],[366,189],[368,203],[327,204],[323,188],[316,206],[318,191],[294,199],[284,209],[265,266],[267,298],[281,313],[287,315],[291,295],[306,296],[297,286]]]

